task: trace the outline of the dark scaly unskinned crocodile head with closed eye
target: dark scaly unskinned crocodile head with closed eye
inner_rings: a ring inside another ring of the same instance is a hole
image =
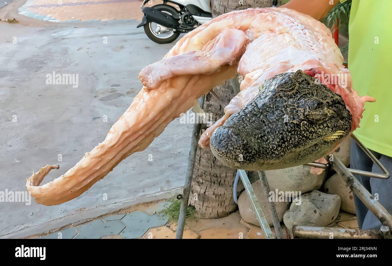
[[[339,94],[303,71],[278,74],[211,136],[224,165],[272,170],[325,156],[351,130],[352,116]]]

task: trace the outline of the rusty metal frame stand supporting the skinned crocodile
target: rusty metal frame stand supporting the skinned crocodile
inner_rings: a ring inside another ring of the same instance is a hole
[[[220,100],[220,98],[216,95],[216,93],[211,90],[211,94],[218,100],[218,102],[225,107],[225,104]],[[204,97],[199,99],[199,103],[203,106]],[[189,202],[189,193],[191,190],[192,184],[192,176],[193,176],[193,168],[194,168],[194,161],[196,157],[196,150],[197,150],[197,142],[200,135],[201,124],[195,123],[193,125],[193,132],[192,132],[192,141],[191,141],[191,152],[189,154],[189,161],[188,161],[188,168],[187,168],[187,176],[185,178],[185,185],[183,189],[183,195],[180,195],[179,198],[182,199],[181,202],[181,209],[180,209],[180,217],[178,219],[177,225],[177,233],[176,239],[181,239],[183,235],[183,230],[185,226],[185,218],[186,218],[186,211]],[[392,216],[388,213],[388,211],[366,190],[366,188],[359,183],[359,181],[354,177],[354,174],[359,174],[362,176],[369,176],[373,178],[379,179],[388,179],[389,173],[385,169],[383,165],[377,160],[376,157],[359,141],[356,136],[351,135],[351,138],[361,147],[361,149],[372,159],[376,165],[379,166],[383,174],[361,171],[356,169],[347,168],[343,163],[339,160],[338,157],[332,156],[330,157],[329,163],[307,163],[307,166],[313,166],[323,169],[332,169],[335,170],[336,173],[339,174],[343,178],[343,180],[347,183],[350,187],[352,192],[354,192],[358,198],[367,206],[367,208],[380,220],[383,224],[380,230],[355,230],[355,229],[341,229],[341,228],[332,228],[332,227],[315,227],[315,226],[293,226],[292,228],[292,235],[294,237],[304,237],[304,238],[329,238],[331,233],[333,234],[334,238],[385,238],[390,239],[392,238]],[[256,218],[260,223],[260,227],[264,233],[266,239],[273,239],[275,238],[270,226],[268,225],[267,219],[265,218],[264,212],[261,209],[260,203],[254,193],[252,185],[250,184],[249,178],[245,172],[245,170],[239,170],[240,177],[243,186],[245,187],[245,191],[247,192],[250,203],[252,204],[253,210],[256,214]],[[258,172],[263,196],[268,201],[268,195],[270,192],[269,184],[265,173],[262,171]],[[269,202],[269,209],[272,215],[272,221],[274,223],[274,228],[276,232],[276,238],[280,239],[283,238],[283,233],[281,230],[278,214],[276,212],[276,207],[274,202]]]

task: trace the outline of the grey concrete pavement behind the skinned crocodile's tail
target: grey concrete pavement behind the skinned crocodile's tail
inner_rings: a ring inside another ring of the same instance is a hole
[[[44,184],[101,142],[141,89],[140,69],[173,45],[152,42],[132,19],[17,19],[22,22],[0,22],[0,192],[15,193],[26,191],[26,178],[40,166],[60,165]],[[78,74],[78,86],[50,84],[53,72]],[[174,195],[183,185],[191,128],[176,119],[145,151],[67,203],[0,202],[0,238],[43,233]]]

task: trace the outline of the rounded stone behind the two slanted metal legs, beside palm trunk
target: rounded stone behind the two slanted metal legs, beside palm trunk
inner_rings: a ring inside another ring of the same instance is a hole
[[[263,196],[260,179],[252,183],[252,188],[261,205],[261,209],[263,210],[264,215],[267,218],[268,224],[272,226],[273,223],[272,223],[272,216],[269,211],[269,204],[268,201]],[[289,206],[290,206],[290,202],[275,202],[276,212],[278,212],[278,217],[280,222],[283,220],[283,214],[289,208]],[[242,192],[240,197],[238,198],[238,208],[240,209],[241,217],[245,222],[260,226],[259,222],[256,219],[256,215],[250,204],[250,200],[246,191]]]

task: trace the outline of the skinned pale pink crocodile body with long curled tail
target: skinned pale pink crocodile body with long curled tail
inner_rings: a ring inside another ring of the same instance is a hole
[[[40,168],[27,179],[27,190],[37,203],[45,205],[78,197],[123,159],[144,150],[201,95],[236,76],[237,67],[244,77],[242,91],[230,101],[221,123],[252,100],[266,78],[298,69],[348,74],[341,67],[342,60],[331,33],[309,16],[278,8],[223,14],[186,34],[163,60],[140,72],[143,89],[102,143],[63,176],[42,186],[49,171],[58,167]],[[331,89],[345,100],[354,130],[366,99],[359,98],[351,87]]]

